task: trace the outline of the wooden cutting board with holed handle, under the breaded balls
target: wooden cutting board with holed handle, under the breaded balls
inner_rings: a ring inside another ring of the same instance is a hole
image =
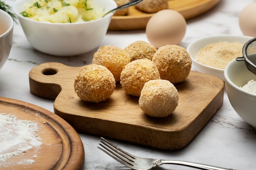
[[[54,112],[81,132],[168,150],[186,146],[223,102],[224,82],[212,75],[191,71],[175,84],[179,104],[168,117],[147,116],[138,97],[127,95],[117,83],[104,102],[83,102],[74,92],[74,77],[81,67],[49,62],[29,73],[30,91],[55,99]]]

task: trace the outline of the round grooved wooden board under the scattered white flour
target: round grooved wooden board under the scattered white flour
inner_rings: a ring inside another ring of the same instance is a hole
[[[0,113],[15,115],[17,119],[36,121],[39,148],[0,162],[1,170],[82,170],[84,164],[83,143],[74,128],[58,115],[33,104],[0,97]],[[36,157],[33,157],[36,155]],[[33,164],[19,161],[32,159]]]

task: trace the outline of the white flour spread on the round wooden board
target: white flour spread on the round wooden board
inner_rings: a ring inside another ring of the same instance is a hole
[[[37,136],[38,124],[35,121],[17,119],[15,115],[0,114],[0,167],[1,162],[20,155],[33,147],[42,144]],[[34,163],[32,159],[23,161],[25,164]],[[18,164],[22,164],[19,162]]]

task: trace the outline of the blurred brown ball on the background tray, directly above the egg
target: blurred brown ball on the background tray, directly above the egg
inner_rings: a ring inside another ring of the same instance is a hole
[[[168,9],[168,0],[143,0],[135,7],[146,13],[156,13],[162,9]]]

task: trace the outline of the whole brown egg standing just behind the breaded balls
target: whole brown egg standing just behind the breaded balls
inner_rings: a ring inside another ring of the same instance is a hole
[[[179,44],[186,33],[186,20],[177,11],[164,9],[153,15],[146,25],[150,44],[159,48],[167,44]]]

